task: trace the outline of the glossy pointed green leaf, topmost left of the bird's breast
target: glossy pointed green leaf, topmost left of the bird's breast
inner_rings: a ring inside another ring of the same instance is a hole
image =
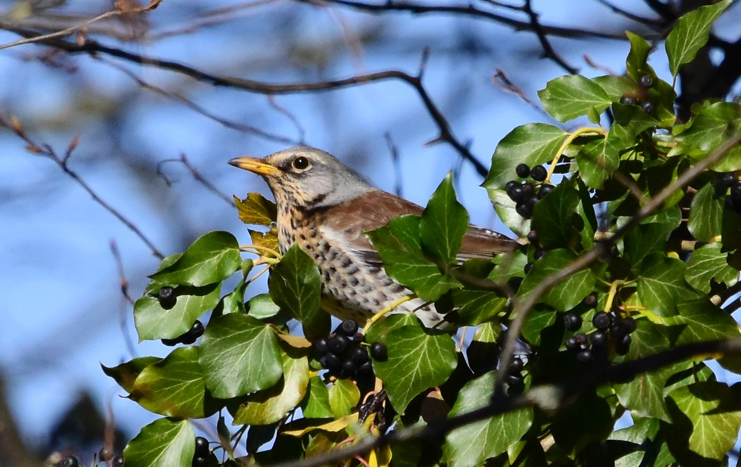
[[[175,263],[150,278],[161,283],[206,286],[232,275],[242,264],[239,242],[229,232],[209,232],[193,242]]]

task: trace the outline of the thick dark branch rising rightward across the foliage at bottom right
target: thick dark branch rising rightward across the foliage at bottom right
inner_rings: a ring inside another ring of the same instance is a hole
[[[409,428],[391,431],[379,437],[368,436],[358,443],[336,451],[330,451],[303,460],[288,463],[273,464],[279,467],[319,467],[348,460],[356,455],[365,454],[373,448],[390,443],[403,443],[411,440],[436,440],[442,435],[461,426],[466,426],[480,420],[486,420],[496,415],[505,414],[525,407],[539,406],[545,411],[557,411],[568,406],[578,399],[587,389],[592,389],[605,383],[624,382],[638,374],[653,372],[665,366],[685,360],[711,355],[727,355],[741,353],[741,337],[727,340],[713,340],[708,342],[691,343],[685,346],[674,347],[648,357],[619,363],[608,368],[595,369],[583,377],[575,380],[565,379],[564,383],[534,386],[525,394],[516,396],[499,395],[487,406],[465,414],[457,415],[444,420],[437,420],[427,425],[411,426]]]

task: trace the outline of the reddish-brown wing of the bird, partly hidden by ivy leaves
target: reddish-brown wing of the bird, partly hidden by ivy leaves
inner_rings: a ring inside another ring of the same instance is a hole
[[[347,240],[348,247],[357,252],[366,263],[380,266],[381,258],[362,235],[363,232],[385,226],[388,221],[400,215],[421,215],[423,210],[422,206],[404,198],[375,190],[328,209],[324,226],[342,234],[342,238]],[[362,212],[363,215],[345,215],[348,212]],[[518,246],[519,243],[505,235],[469,225],[457,258],[461,262],[471,258],[491,259],[498,253],[511,252]]]

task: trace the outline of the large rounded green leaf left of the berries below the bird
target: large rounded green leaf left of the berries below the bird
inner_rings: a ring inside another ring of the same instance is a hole
[[[222,399],[267,389],[283,374],[280,349],[270,326],[236,313],[208,323],[199,363],[207,388]]]

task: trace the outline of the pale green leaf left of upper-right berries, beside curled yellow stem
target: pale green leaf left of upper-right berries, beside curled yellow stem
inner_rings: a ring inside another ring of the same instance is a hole
[[[491,156],[491,169],[481,184],[485,188],[502,188],[516,178],[517,164],[534,167],[550,162],[568,134],[559,127],[531,123],[516,127],[496,146]]]

